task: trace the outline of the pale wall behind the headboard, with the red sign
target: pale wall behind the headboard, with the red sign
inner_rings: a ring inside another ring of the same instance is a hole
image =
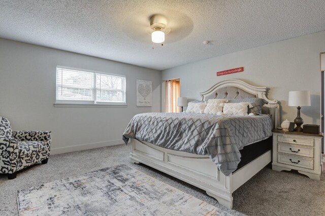
[[[199,92],[228,79],[269,87],[268,97],[281,102],[280,121],[297,116],[296,107],[287,105],[288,92],[310,90],[312,105],[302,107],[302,118],[320,124],[321,52],[325,52],[325,31],[170,68],[163,71],[162,79],[180,78],[180,94],[190,99],[200,99]],[[241,73],[216,76],[216,71],[241,66]]]

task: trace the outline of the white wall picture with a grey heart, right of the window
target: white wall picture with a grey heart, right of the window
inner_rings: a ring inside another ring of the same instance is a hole
[[[152,82],[137,80],[137,106],[152,106]]]

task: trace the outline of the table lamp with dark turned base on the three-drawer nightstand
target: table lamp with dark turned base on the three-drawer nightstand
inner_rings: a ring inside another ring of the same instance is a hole
[[[289,91],[289,106],[297,106],[297,117],[295,119],[295,124],[297,127],[295,131],[303,132],[301,127],[304,124],[304,120],[300,117],[300,106],[310,106],[310,92],[309,91]]]

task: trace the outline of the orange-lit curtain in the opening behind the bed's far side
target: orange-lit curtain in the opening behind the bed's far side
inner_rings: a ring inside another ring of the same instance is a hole
[[[165,94],[165,112],[166,113],[179,113],[179,106],[177,106],[177,98],[179,97],[179,81],[167,80],[166,81],[166,94]]]

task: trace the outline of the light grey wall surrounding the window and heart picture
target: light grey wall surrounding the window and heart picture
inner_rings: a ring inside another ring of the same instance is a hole
[[[127,107],[54,107],[56,65],[125,75]],[[136,79],[152,81],[152,107],[136,106]],[[0,39],[0,116],[14,130],[51,130],[52,153],[121,144],[135,114],[160,112],[160,83],[157,70]]]

